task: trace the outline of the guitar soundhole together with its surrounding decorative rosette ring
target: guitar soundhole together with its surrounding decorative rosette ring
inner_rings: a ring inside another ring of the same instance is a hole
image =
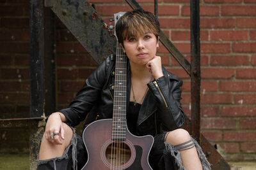
[[[102,147],[102,153],[104,164],[115,169],[125,169],[131,166],[136,157],[134,146],[127,140],[107,141]]]

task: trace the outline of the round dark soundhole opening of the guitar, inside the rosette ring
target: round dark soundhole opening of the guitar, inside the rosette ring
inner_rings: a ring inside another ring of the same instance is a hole
[[[131,150],[126,143],[115,141],[107,147],[106,158],[112,166],[124,166],[131,159]]]

